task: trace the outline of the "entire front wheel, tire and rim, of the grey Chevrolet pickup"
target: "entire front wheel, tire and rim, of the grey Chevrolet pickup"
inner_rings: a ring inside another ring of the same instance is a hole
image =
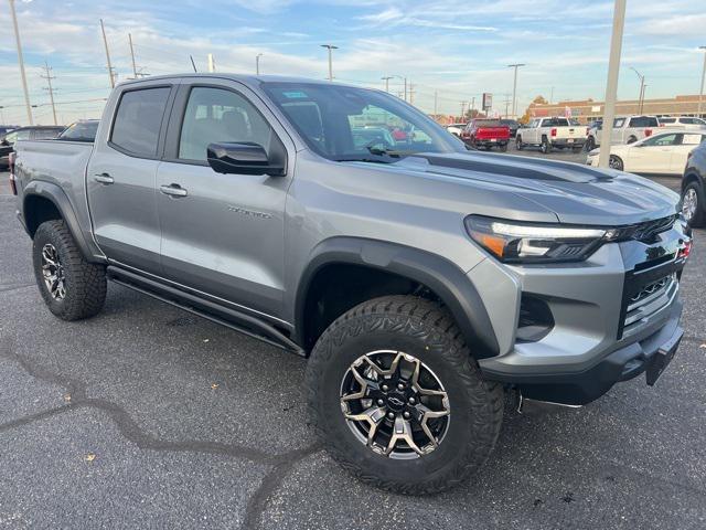
[[[313,349],[307,385],[329,453],[397,492],[460,484],[491,454],[502,423],[502,388],[483,380],[450,315],[411,296],[338,318]]]

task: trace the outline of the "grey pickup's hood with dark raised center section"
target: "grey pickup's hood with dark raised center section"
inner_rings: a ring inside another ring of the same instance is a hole
[[[494,184],[561,223],[627,225],[677,213],[678,194],[648,179],[579,163],[492,153],[419,153],[392,166],[467,186]]]

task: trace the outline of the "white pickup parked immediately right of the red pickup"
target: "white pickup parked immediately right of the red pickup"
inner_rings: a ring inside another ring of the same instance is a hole
[[[515,136],[517,150],[525,146],[539,146],[542,152],[549,152],[555,147],[580,150],[585,142],[586,128],[575,119],[561,117],[535,118]]]

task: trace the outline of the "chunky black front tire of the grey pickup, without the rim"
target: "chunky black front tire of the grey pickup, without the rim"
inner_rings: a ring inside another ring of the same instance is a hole
[[[416,357],[448,392],[446,436],[416,459],[373,452],[352,434],[341,411],[341,383],[351,363],[383,349]],[[376,298],[338,318],[313,349],[307,386],[310,421],[329,453],[353,476],[389,491],[422,495],[459,485],[492,453],[502,424],[502,386],[482,378],[450,314],[413,296]]]

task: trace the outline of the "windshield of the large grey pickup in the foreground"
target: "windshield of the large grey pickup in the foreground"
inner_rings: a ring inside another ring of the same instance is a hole
[[[384,92],[322,83],[264,83],[317,153],[336,161],[394,162],[415,152],[463,152],[463,142]]]

